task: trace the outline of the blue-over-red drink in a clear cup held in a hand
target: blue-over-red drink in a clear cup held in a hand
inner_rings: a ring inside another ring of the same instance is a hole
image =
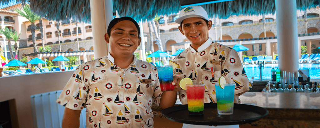
[[[174,86],[172,85],[173,81],[173,71],[172,66],[159,66],[157,67],[160,88],[162,92],[172,91]]]

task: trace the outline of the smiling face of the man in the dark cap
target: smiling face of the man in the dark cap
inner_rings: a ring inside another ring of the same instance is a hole
[[[105,34],[105,41],[110,45],[110,54],[114,57],[133,54],[140,45],[138,29],[130,20],[123,20],[111,28],[110,36]]]

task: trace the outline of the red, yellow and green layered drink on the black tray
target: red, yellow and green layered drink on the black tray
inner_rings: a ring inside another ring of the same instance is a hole
[[[204,84],[187,84],[187,100],[189,115],[203,115]]]

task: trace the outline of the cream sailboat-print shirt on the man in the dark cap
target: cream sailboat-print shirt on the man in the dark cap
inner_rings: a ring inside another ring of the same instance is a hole
[[[78,66],[57,103],[85,108],[87,128],[152,128],[151,105],[163,93],[156,67],[134,57],[123,70],[113,61],[109,54]]]

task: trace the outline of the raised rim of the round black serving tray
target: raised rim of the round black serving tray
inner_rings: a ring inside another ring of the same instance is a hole
[[[210,107],[215,107],[217,106],[217,103],[204,103],[204,108],[210,108]],[[188,104],[186,105],[178,105],[178,106],[173,106],[170,108],[165,108],[161,111],[161,114],[164,115],[167,119],[174,121],[174,122],[178,122],[178,123],[184,123],[184,124],[195,124],[195,125],[235,125],[235,124],[246,124],[246,123],[252,123],[255,122],[259,119],[261,119],[262,117],[265,117],[269,114],[269,111],[266,108],[262,108],[259,106],[254,106],[254,105],[247,105],[247,104],[234,104],[234,108],[236,107],[253,107],[253,108],[259,108],[260,110],[263,111],[258,111],[257,109],[253,109],[253,112],[259,113],[261,114],[261,116],[259,117],[255,117],[255,118],[251,118],[251,119],[247,119],[244,121],[224,121],[222,123],[219,122],[208,122],[208,121],[197,121],[197,123],[190,123],[189,120],[185,120],[185,119],[179,119],[179,118],[175,118],[175,117],[171,117],[171,116],[167,116],[166,114],[171,113],[175,110],[181,110],[181,108],[187,108],[188,109]],[[222,116],[222,115],[220,115]]]

